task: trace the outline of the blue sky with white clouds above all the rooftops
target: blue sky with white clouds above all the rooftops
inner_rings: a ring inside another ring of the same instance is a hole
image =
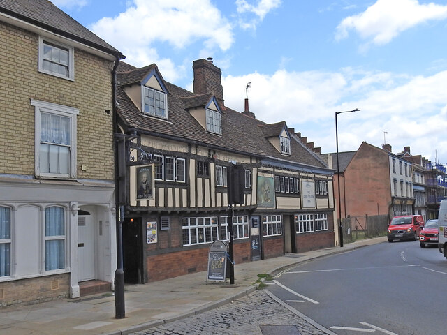
[[[189,91],[193,61],[212,57],[227,107],[248,96],[256,119],[286,121],[323,154],[346,112],[339,152],[388,143],[447,163],[447,0],[52,2]]]

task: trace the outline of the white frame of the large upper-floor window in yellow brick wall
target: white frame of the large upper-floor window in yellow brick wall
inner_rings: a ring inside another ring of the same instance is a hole
[[[39,101],[31,99],[31,105],[34,106],[34,168],[37,177],[58,177],[58,178],[75,178],[76,177],[76,132],[77,132],[77,116],[79,110],[77,108],[68,107],[64,105],[57,105],[56,103],[47,103],[46,101]],[[41,113],[49,113],[70,118],[70,145],[68,148],[68,174],[41,172]]]

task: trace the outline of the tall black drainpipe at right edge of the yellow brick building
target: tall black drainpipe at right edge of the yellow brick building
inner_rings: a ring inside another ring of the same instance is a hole
[[[124,221],[124,206],[119,204],[119,172],[118,172],[118,115],[117,115],[117,67],[119,59],[126,58],[123,55],[117,55],[115,65],[112,70],[112,122],[113,122],[113,167],[115,174],[115,222],[117,230],[117,270],[115,271],[115,318],[123,319],[126,317],[124,308],[124,269],[123,269],[123,234],[122,223]]]

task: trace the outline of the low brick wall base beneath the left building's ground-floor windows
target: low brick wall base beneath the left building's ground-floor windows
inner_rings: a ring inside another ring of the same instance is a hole
[[[69,274],[0,283],[0,306],[31,304],[69,296]]]

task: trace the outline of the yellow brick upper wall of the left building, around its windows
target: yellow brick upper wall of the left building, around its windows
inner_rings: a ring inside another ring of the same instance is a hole
[[[113,179],[110,62],[75,50],[74,82],[39,73],[38,35],[4,23],[0,57],[0,173],[34,175],[33,98],[80,110],[78,178]]]

